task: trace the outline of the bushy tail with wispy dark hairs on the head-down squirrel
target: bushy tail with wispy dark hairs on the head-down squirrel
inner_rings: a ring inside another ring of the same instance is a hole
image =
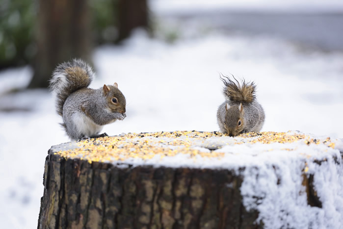
[[[227,99],[237,102],[253,102],[255,100],[256,85],[254,82],[245,82],[243,79],[240,85],[235,77],[237,83],[223,75],[220,76],[220,79],[224,82],[224,94]]]

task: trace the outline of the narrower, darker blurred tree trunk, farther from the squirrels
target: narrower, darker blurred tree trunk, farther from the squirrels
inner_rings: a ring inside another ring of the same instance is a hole
[[[143,27],[148,29],[147,0],[119,0],[118,17],[118,41],[129,37],[134,28]]]

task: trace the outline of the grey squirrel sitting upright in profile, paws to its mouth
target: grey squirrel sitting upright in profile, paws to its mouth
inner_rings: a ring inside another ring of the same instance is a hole
[[[103,126],[126,117],[126,100],[118,84],[88,88],[94,75],[81,59],[59,64],[53,71],[50,89],[56,93],[56,111],[72,140],[108,136],[99,134]]]

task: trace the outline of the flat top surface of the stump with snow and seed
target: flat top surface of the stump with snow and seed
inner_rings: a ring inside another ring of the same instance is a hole
[[[325,160],[341,157],[342,139],[299,131],[244,133],[229,137],[217,132],[174,131],[128,133],[53,146],[65,158],[126,165],[191,168],[238,168],[275,163],[287,157]]]

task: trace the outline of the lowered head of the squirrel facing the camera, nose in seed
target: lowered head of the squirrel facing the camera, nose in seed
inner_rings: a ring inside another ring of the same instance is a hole
[[[235,137],[244,129],[243,105],[240,103],[239,105],[230,106],[228,103],[226,103],[225,109],[225,129],[229,136]]]

